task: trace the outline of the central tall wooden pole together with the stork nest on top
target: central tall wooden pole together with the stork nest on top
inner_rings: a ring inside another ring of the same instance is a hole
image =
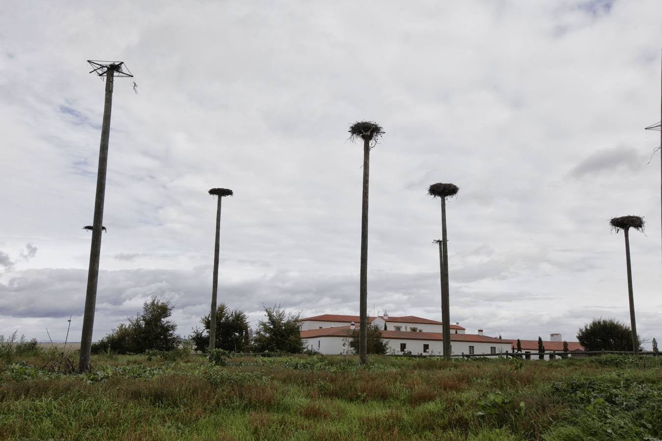
[[[363,198],[361,199],[361,268],[359,275],[359,363],[367,361],[368,329],[368,187],[370,170],[370,149],[377,145],[377,139],[384,130],[376,122],[361,121],[350,126],[350,139],[363,140]],[[372,144],[372,145],[371,145]]]

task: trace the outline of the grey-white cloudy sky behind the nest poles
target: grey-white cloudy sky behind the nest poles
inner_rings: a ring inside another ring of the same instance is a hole
[[[362,148],[371,152],[372,312],[440,319],[448,203],[451,321],[575,338],[593,317],[662,338],[662,3],[649,1],[24,1],[0,16],[0,334],[82,325],[104,83],[113,102],[94,339],[171,299],[179,333],[219,301],[248,313],[357,313]]]

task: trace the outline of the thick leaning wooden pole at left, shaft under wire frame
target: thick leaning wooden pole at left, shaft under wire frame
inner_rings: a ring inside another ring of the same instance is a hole
[[[103,226],[103,203],[106,194],[106,169],[108,166],[108,141],[111,134],[111,108],[113,106],[113,81],[115,70],[106,71],[106,96],[103,104],[101,125],[101,145],[99,146],[99,170],[97,171],[97,195],[94,200],[94,220],[92,224],[92,245],[89,252],[87,270],[87,292],[83,312],[83,332],[78,360],[78,372],[89,370],[89,357],[92,348],[94,313],[97,304],[97,282],[99,282],[99,257],[101,256],[101,227]]]

